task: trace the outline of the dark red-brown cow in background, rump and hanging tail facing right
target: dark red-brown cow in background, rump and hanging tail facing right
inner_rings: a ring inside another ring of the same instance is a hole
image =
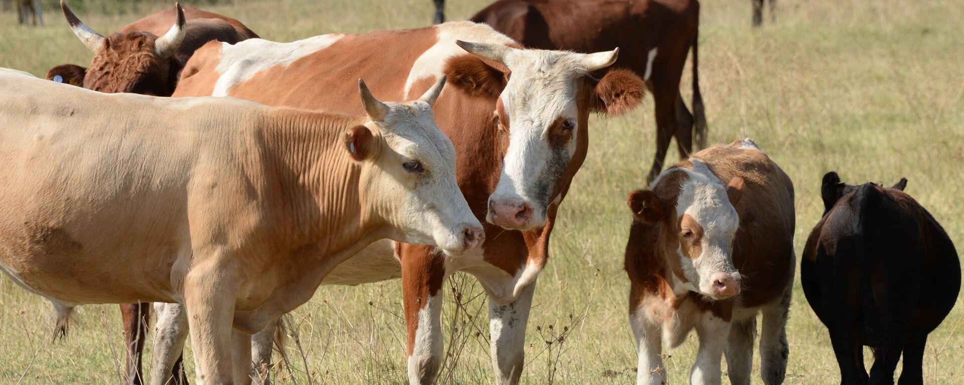
[[[526,47],[598,52],[620,47],[612,68],[629,68],[647,82],[656,104],[656,159],[652,182],[675,137],[683,157],[692,152],[694,116],[680,96],[683,64],[693,50],[693,112],[696,145],[707,146],[707,117],[697,65],[700,3],[696,0],[500,0],[471,20]]]

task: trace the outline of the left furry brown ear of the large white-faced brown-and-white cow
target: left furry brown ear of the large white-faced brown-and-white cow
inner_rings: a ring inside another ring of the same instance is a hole
[[[474,97],[496,98],[505,90],[505,72],[474,55],[459,55],[445,64],[448,83]]]

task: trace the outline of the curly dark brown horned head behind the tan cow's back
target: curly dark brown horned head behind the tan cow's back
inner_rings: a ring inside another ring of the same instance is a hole
[[[174,26],[162,37],[147,32],[130,32],[105,38],[80,21],[67,3],[61,1],[61,8],[74,35],[94,52],[94,59],[85,69],[83,83],[80,83],[85,89],[161,96],[174,91],[171,62],[186,32],[184,10],[179,4]],[[61,67],[54,67],[51,71]]]

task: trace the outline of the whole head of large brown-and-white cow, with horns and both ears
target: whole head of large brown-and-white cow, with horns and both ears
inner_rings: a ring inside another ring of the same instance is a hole
[[[616,61],[618,49],[595,54],[517,49],[458,41],[508,72],[476,62],[449,71],[453,83],[497,97],[495,116],[504,144],[502,170],[489,198],[487,220],[509,229],[545,226],[549,204],[585,156],[590,109],[619,113],[637,105],[644,90],[635,75],[610,71],[613,82],[589,74]],[[494,94],[495,92],[497,94]],[[580,102],[585,102],[580,109]],[[575,167],[574,160],[577,160]]]

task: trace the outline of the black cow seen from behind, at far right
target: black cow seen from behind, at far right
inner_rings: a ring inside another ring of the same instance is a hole
[[[887,189],[823,176],[823,218],[800,261],[803,293],[827,326],[844,384],[924,384],[927,334],[951,313],[961,286],[951,238],[907,179]],[[864,347],[873,351],[870,376]]]

